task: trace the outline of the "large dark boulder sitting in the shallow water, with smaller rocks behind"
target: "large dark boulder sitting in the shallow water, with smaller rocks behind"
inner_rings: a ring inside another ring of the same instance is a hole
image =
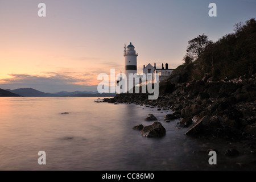
[[[156,121],[152,125],[143,127],[141,135],[143,137],[163,137],[166,135],[166,129],[160,122]]]

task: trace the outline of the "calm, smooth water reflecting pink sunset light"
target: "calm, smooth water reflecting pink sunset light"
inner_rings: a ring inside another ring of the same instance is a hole
[[[171,111],[134,104],[96,103],[92,97],[0,97],[0,170],[205,170],[256,169],[242,144],[201,141],[184,135]],[[144,109],[143,109],[144,108]],[[68,112],[69,114],[61,114]],[[133,126],[152,113],[166,128],[163,138],[144,138]],[[228,158],[227,148],[241,155]],[[215,148],[217,165],[207,150]],[[46,165],[38,152],[46,151]]]

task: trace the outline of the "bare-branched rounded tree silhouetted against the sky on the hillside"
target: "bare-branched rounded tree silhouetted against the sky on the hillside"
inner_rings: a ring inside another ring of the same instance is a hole
[[[197,38],[189,40],[187,55],[192,57],[193,60],[197,60],[205,51],[205,49],[212,44],[211,40],[208,40],[207,35],[199,35]]]

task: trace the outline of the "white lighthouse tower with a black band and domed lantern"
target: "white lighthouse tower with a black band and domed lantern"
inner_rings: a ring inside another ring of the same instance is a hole
[[[129,73],[137,73],[137,56],[138,53],[136,53],[136,51],[134,50],[134,46],[133,44],[130,44],[127,46],[126,49],[126,45],[125,45],[125,51],[123,53],[123,56],[125,56],[125,75],[127,77],[127,92],[129,92]],[[133,88],[134,85],[134,81],[131,80],[133,82],[133,86],[130,85],[130,88]]]

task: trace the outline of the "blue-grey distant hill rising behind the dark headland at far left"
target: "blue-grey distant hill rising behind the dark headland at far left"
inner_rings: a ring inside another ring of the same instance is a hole
[[[57,97],[57,95],[55,94],[40,92],[32,88],[22,88],[22,89],[15,89],[15,90],[7,89],[7,91],[13,92],[15,94],[19,94],[20,96],[24,96],[24,97]]]

